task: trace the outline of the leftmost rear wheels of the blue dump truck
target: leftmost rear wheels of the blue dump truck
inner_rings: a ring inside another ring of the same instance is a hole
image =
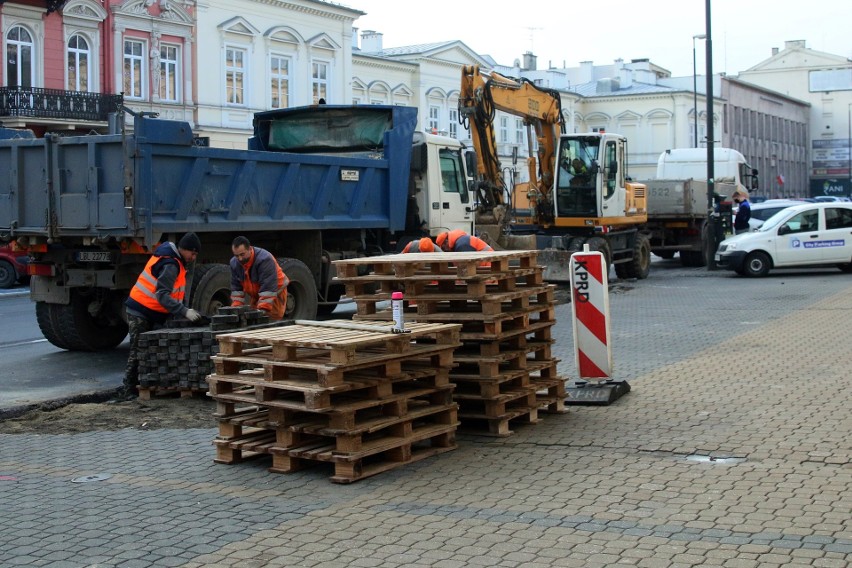
[[[105,351],[118,346],[127,337],[127,322],[114,293],[71,291],[71,303],[36,304],[36,318],[45,339],[69,351]],[[41,311],[41,318],[39,318]],[[42,325],[44,323],[44,326]]]

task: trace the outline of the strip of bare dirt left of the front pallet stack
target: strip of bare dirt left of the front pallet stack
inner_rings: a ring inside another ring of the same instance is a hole
[[[208,397],[67,404],[37,408],[0,420],[0,434],[75,434],[93,430],[214,428],[216,403]]]

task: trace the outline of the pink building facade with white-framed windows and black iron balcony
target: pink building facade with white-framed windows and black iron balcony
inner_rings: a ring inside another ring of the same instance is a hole
[[[0,125],[103,132],[122,104],[194,122],[194,4],[0,2]]]

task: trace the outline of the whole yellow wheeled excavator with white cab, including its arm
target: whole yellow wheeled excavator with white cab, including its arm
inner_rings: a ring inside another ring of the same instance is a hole
[[[529,182],[507,187],[497,155],[496,111],[528,128]],[[645,278],[651,243],[645,185],[627,176],[627,139],[617,134],[566,134],[558,91],[528,79],[464,66],[459,121],[470,129],[477,157],[477,229],[495,248],[539,249],[545,278],[567,281],[574,252],[604,254],[621,278]],[[535,142],[535,147],[534,147]]]

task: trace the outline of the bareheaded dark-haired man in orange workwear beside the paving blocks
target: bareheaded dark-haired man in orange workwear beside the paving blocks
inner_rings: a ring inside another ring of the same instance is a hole
[[[263,310],[272,320],[283,318],[290,279],[272,253],[243,236],[233,240],[231,252],[231,305]]]

